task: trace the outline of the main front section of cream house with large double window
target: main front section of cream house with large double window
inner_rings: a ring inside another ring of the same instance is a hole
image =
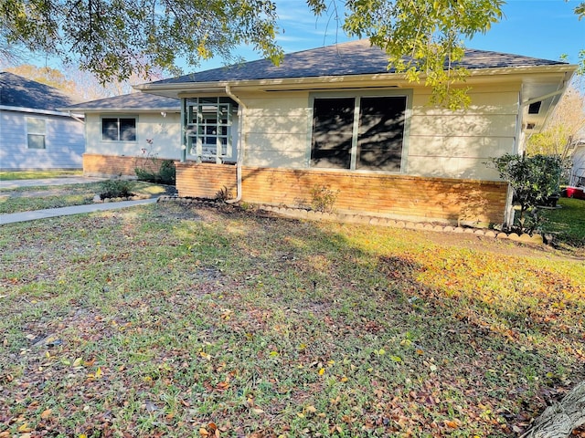
[[[524,151],[576,67],[473,49],[460,64],[472,104],[454,111],[368,40],[135,89],[181,99],[181,196],[306,208],[317,189],[338,213],[502,224],[512,196],[486,162]]]

